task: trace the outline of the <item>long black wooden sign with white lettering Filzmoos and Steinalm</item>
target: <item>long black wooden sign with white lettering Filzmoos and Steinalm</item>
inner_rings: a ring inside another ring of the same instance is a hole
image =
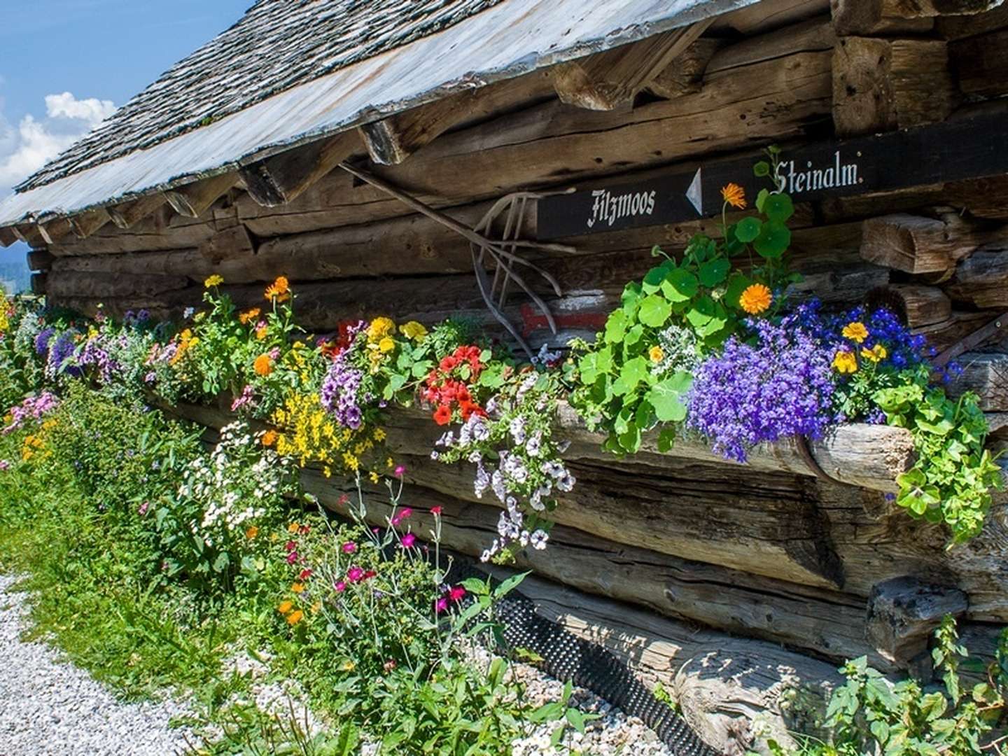
[[[778,176],[795,202],[849,197],[1008,173],[1008,111],[845,141],[785,150]],[[756,178],[746,157],[705,164],[636,183],[589,186],[539,201],[538,238],[679,223],[721,213],[721,187],[733,181],[755,199],[768,178]]]

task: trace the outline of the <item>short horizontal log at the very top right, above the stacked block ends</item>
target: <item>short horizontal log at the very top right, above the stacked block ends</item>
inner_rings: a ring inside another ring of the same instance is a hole
[[[926,31],[936,16],[983,13],[1001,3],[1002,0],[832,0],[831,5],[838,34],[879,34]],[[921,21],[929,25],[920,28]]]

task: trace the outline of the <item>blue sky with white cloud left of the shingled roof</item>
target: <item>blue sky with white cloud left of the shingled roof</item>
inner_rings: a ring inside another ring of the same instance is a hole
[[[252,3],[0,0],[0,198]]]

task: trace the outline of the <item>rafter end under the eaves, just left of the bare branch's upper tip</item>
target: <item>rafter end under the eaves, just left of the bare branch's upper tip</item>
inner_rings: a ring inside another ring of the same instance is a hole
[[[344,132],[248,165],[242,168],[241,177],[253,200],[263,207],[275,208],[293,202],[312,183],[359,152],[360,146],[356,133]]]

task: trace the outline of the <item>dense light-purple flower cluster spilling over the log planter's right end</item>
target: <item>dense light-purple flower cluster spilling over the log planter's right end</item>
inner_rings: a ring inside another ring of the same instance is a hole
[[[834,422],[833,353],[797,323],[750,322],[756,345],[732,337],[697,370],[686,425],[714,451],[745,462],[750,449],[790,435],[820,438]]]

